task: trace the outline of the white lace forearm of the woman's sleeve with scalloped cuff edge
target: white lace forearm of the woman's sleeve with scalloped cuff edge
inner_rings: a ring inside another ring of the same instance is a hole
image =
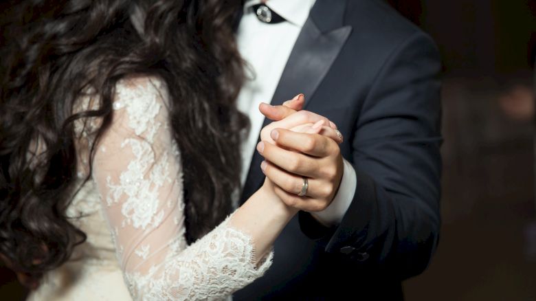
[[[254,265],[253,245],[250,236],[224,222],[188,252],[170,257],[146,275],[127,273],[126,281],[135,300],[222,300],[270,267],[272,252]]]

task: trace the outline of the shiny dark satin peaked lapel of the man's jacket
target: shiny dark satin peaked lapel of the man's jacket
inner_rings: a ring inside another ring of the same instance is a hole
[[[352,31],[352,27],[342,25],[345,7],[346,0],[317,0],[284,67],[271,104],[282,104],[298,93],[304,93],[305,106],[309,104],[308,100],[313,98]],[[263,127],[269,122],[265,120]],[[243,189],[242,202],[263,183],[265,176],[260,170],[262,161],[263,157],[255,152]]]

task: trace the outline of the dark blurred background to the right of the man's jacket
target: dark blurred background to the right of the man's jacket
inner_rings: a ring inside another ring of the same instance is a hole
[[[388,2],[435,39],[444,64],[443,225],[406,300],[536,300],[536,0]],[[0,267],[0,298],[23,296]]]

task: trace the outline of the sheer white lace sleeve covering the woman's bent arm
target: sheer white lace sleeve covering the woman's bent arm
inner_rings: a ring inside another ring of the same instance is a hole
[[[181,161],[167,100],[159,80],[118,84],[93,179],[135,300],[224,298],[262,276],[272,254],[255,265],[252,238],[227,221],[186,245]]]

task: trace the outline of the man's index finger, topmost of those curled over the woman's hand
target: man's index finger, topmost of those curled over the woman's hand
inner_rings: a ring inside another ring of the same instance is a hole
[[[330,139],[318,134],[295,133],[285,129],[274,129],[270,133],[271,139],[278,146],[298,150],[300,153],[315,157],[327,157],[333,153]]]

